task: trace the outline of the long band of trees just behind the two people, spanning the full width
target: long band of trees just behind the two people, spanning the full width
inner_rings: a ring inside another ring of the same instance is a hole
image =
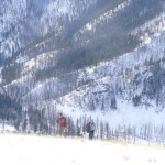
[[[59,128],[56,123],[58,112],[54,109],[36,109],[33,106],[22,110],[18,101],[0,94],[0,123],[6,130],[6,125],[14,125],[19,132],[58,135]],[[80,116],[76,120],[67,118],[66,136],[87,138],[86,124],[91,117]],[[138,142],[146,140],[148,142],[163,143],[165,139],[165,125],[145,123],[142,125],[124,125],[118,123],[111,127],[110,122],[96,119],[95,139],[102,140],[127,140]]]

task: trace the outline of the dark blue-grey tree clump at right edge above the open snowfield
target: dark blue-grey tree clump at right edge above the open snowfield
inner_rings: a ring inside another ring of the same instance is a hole
[[[163,64],[160,62],[152,62],[150,61],[150,67],[148,72],[151,75],[148,77],[145,77],[142,79],[142,76],[140,73],[134,75],[133,78],[133,87],[134,90],[143,87],[143,90],[139,95],[134,95],[132,98],[132,102],[134,106],[140,106],[142,103],[145,103],[145,99],[147,98],[147,101],[155,101],[155,105],[158,107],[162,107],[160,111],[164,108],[164,84],[165,84],[165,69],[163,67]],[[144,74],[145,74],[144,72]]]

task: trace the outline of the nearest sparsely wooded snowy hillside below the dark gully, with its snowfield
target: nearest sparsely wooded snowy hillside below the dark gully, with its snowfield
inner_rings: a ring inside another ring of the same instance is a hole
[[[160,127],[165,124],[164,101],[157,106],[155,99],[151,100],[142,95],[143,82],[153,75],[146,64],[151,59],[153,62],[161,61],[161,66],[164,68],[164,37],[165,35],[162,35],[145,47],[140,47],[113,61],[69,73],[65,77],[53,77],[35,84],[30,70],[34,68],[35,72],[37,66],[44,66],[37,65],[37,63],[48,62],[46,55],[43,54],[41,57],[44,58],[25,63],[22,73],[30,73],[29,76],[21,77],[6,87],[11,96],[18,94],[18,90],[15,94],[13,92],[12,87],[16,89],[18,86],[21,87],[20,95],[24,110],[29,109],[31,105],[40,110],[63,111],[75,122],[85,116],[94,118],[95,121],[99,118],[99,121],[108,122],[114,129],[120,124],[136,127],[138,134],[140,134],[141,127],[144,124],[152,123]],[[54,56],[50,54],[50,57]],[[138,74],[141,76],[136,87],[134,86],[134,78]],[[123,92],[120,94],[116,89],[117,86],[121,87]],[[65,95],[59,97],[61,92]],[[164,96],[164,88],[160,94],[162,97]],[[142,95],[139,107],[134,107],[132,103],[132,98],[136,95]],[[117,109],[111,107],[111,100],[114,97]],[[154,136],[155,133],[152,135]]]

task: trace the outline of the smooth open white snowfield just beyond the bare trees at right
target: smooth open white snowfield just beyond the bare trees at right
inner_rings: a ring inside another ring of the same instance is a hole
[[[69,102],[65,100],[64,102]],[[147,110],[145,107],[134,107],[132,103],[119,100],[119,107],[116,111],[100,111],[99,107],[96,111],[82,110],[81,108],[75,108],[69,105],[56,105],[56,109],[64,110],[63,112],[67,116],[73,116],[75,120],[79,117],[86,116],[92,118],[95,121],[99,118],[105,122],[110,123],[111,128],[118,128],[122,125],[136,125],[141,128],[145,123],[152,123],[156,125],[165,124],[165,112],[155,113],[155,108],[150,107]]]

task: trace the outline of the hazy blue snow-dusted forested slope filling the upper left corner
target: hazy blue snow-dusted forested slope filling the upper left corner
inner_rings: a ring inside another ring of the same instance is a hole
[[[66,24],[95,6],[96,0],[1,0],[0,3],[0,53],[7,58],[32,48],[48,33],[57,35]]]

